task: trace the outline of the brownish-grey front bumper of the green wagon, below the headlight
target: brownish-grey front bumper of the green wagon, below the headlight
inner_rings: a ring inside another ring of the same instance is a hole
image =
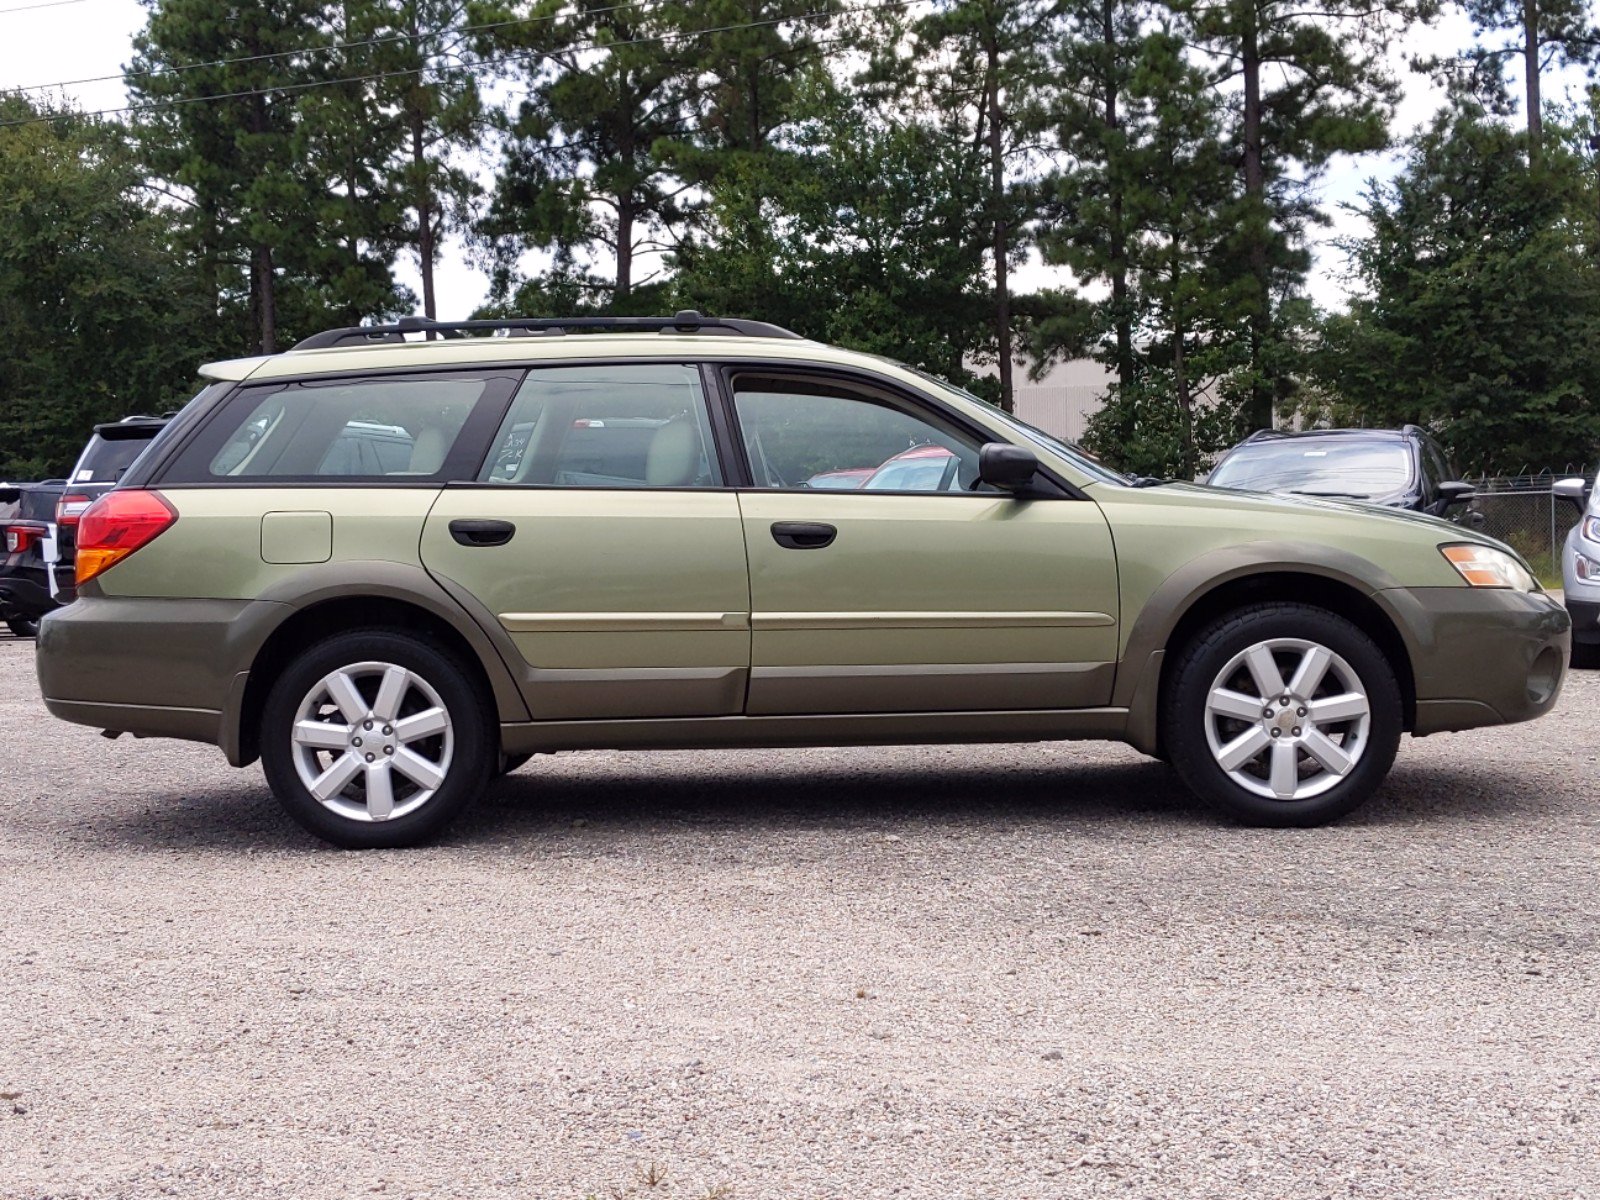
[[[1411,650],[1414,734],[1526,722],[1555,706],[1571,618],[1544,592],[1410,587],[1381,597]]]

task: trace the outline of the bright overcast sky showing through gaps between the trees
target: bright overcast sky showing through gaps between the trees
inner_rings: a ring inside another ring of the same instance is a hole
[[[43,5],[43,6],[34,6]],[[30,86],[117,75],[131,58],[133,35],[144,27],[146,10],[138,0],[0,0],[0,86]],[[1414,34],[1395,51],[1395,67],[1405,86],[1405,99],[1395,120],[1395,139],[1402,139],[1426,123],[1438,107],[1434,85],[1403,66],[1403,56],[1418,53],[1453,53],[1470,42],[1470,26],[1459,13],[1451,13],[1429,30]],[[1581,75],[1546,85],[1547,102],[1568,94],[1576,98]],[[1520,83],[1518,83],[1520,86]],[[128,102],[120,78],[98,83],[74,83],[62,88],[83,109],[115,109]],[[1312,296],[1325,306],[1338,306],[1344,298],[1341,258],[1328,246],[1330,238],[1358,229],[1358,219],[1339,205],[1354,202],[1371,176],[1389,176],[1398,155],[1358,155],[1336,160],[1325,174],[1320,192],[1334,219],[1331,230],[1317,235],[1317,264],[1310,278]],[[402,262],[402,278],[419,291],[414,264]],[[466,317],[477,307],[486,290],[485,277],[464,259],[459,245],[448,245],[437,270],[440,317]],[[1034,264],[1018,277],[1019,290],[1066,285],[1069,280],[1051,269]],[[760,314],[741,314],[760,317]]]

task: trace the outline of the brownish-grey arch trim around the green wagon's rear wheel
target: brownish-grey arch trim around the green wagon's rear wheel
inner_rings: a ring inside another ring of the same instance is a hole
[[[331,570],[330,570],[331,568]],[[234,677],[222,712],[222,750],[235,766],[259,754],[267,693],[304,646],[352,629],[405,629],[446,646],[490,696],[501,722],[525,722],[528,709],[501,650],[474,614],[422,568],[405,563],[328,563],[262,594],[283,618]],[[496,731],[498,733],[498,731]]]

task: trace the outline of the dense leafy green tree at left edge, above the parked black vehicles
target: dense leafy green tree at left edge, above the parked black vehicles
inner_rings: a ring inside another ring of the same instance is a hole
[[[0,120],[48,115],[0,98]],[[126,131],[69,112],[0,128],[0,478],[64,475],[98,421],[174,406],[218,357],[170,208]]]

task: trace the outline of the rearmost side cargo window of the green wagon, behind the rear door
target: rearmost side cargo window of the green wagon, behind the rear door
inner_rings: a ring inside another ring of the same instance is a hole
[[[470,454],[462,440],[474,414],[498,419],[518,374],[374,376],[246,387],[184,448],[163,482],[448,477],[458,448],[462,459]],[[470,456],[475,467],[477,454]]]

